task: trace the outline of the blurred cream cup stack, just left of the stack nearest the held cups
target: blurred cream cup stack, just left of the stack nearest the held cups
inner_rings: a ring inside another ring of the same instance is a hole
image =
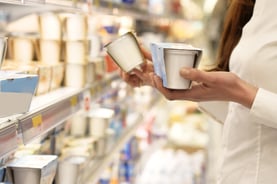
[[[57,13],[46,12],[39,15],[40,40],[38,43],[38,61],[40,61],[41,80],[51,76],[49,90],[52,91],[62,85],[65,66],[62,61],[62,24]],[[51,27],[51,29],[49,29]],[[47,73],[50,67],[51,75]],[[43,70],[45,68],[45,70]],[[43,72],[45,71],[45,72]],[[47,90],[45,91],[47,92]],[[40,94],[40,93],[38,93]]]

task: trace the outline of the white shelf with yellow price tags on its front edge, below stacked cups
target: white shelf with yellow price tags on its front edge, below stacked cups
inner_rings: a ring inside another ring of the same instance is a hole
[[[82,108],[84,96],[97,96],[109,89],[117,74],[85,88],[62,87],[33,98],[30,111],[0,119],[0,158],[15,150],[18,144],[27,144],[48,133]]]

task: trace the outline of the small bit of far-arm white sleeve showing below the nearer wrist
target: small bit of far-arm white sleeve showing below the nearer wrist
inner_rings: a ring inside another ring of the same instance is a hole
[[[213,119],[219,123],[224,123],[227,113],[229,102],[225,101],[209,101],[209,102],[199,102],[199,109],[211,116]]]

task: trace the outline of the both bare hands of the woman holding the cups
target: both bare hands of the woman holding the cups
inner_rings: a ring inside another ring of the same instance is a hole
[[[133,87],[153,86],[169,100],[233,101],[251,108],[258,88],[231,72],[205,72],[193,68],[182,68],[180,75],[193,81],[191,89],[172,90],[163,87],[161,78],[154,73],[150,52],[141,49],[146,59],[141,70],[134,69],[131,73],[120,71],[122,79],[129,85]]]

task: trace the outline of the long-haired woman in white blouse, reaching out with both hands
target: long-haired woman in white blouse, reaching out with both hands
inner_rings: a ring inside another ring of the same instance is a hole
[[[230,102],[223,126],[220,184],[277,183],[276,7],[276,0],[232,0],[217,71],[182,68],[180,75],[195,81],[189,90],[164,88],[147,51],[143,72],[121,72],[130,85],[151,85],[170,100]]]

